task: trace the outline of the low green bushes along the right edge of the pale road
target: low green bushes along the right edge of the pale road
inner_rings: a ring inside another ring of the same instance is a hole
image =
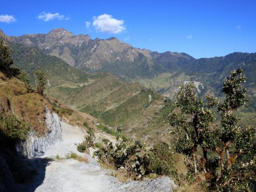
[[[130,172],[137,179],[153,172],[159,175],[173,173],[168,144],[164,142],[155,144],[151,152],[140,141],[129,144],[127,138],[123,136],[121,128],[116,131],[118,135],[115,146],[108,139],[103,139],[104,144],[99,145],[98,150],[94,153],[101,162]]]

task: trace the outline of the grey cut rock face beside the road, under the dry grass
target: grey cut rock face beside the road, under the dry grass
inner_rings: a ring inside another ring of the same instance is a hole
[[[36,132],[31,130],[28,133],[26,141],[16,144],[16,150],[25,158],[42,155],[51,145],[62,140],[62,127],[64,125],[61,118],[45,107],[44,121],[49,129],[47,135],[38,137]]]

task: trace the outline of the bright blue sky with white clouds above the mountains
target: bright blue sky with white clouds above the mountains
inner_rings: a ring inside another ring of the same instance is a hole
[[[0,29],[7,35],[48,33],[57,27],[195,58],[251,53],[256,52],[256,0],[1,2]]]

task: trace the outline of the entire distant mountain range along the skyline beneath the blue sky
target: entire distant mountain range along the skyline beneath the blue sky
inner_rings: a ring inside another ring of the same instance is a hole
[[[134,48],[117,38],[90,39],[63,28],[48,34],[25,34],[20,37],[0,35],[8,42],[37,47],[44,54],[55,55],[72,67],[90,73],[109,72],[125,82],[140,82],[165,96],[173,96],[177,85],[194,82],[198,93],[220,94],[230,70],[242,67],[246,87],[256,91],[256,53],[232,53],[222,57],[195,59],[186,53],[152,52]]]

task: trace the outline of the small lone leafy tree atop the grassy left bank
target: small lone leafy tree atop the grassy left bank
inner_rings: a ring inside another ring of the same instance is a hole
[[[35,75],[36,91],[40,95],[43,95],[49,75],[42,67],[37,68],[33,73]]]

